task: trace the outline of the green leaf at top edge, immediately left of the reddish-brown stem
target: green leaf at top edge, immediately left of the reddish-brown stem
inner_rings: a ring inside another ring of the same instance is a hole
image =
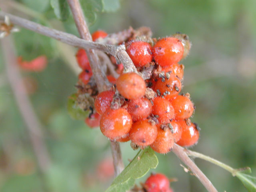
[[[51,6],[58,19],[62,21],[68,19],[70,12],[68,9],[68,2],[66,0],[51,0]]]

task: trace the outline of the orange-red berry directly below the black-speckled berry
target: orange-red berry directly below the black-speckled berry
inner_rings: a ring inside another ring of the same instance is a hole
[[[158,116],[160,124],[170,123],[174,118],[174,109],[172,104],[162,97],[156,97],[153,100],[152,114]]]

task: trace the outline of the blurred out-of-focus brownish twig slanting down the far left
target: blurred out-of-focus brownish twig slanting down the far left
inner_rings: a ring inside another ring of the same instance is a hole
[[[1,44],[8,81],[10,82],[22,118],[26,123],[30,142],[38,160],[38,166],[42,172],[45,172],[50,166],[50,156],[43,140],[42,126],[35,116],[35,112],[26,94],[26,88],[22,83],[11,36],[2,39]]]

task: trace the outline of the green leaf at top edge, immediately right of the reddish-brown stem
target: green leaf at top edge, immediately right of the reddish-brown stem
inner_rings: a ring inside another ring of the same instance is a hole
[[[97,13],[103,11],[103,0],[80,0],[88,25],[94,24]]]

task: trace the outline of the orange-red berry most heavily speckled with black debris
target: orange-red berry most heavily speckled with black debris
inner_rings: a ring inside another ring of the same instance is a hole
[[[164,96],[164,98],[170,100],[177,96],[179,92],[181,91],[181,82],[180,79],[170,74],[170,77],[163,79],[158,79],[156,82],[156,85],[154,86],[154,91],[157,93],[160,92],[161,96]]]

